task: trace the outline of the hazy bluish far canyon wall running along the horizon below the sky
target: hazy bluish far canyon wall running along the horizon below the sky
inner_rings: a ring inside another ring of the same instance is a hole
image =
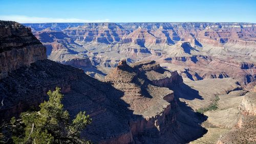
[[[174,44],[179,40],[201,45],[255,44],[254,23],[131,22],[131,23],[27,23],[35,31],[62,31],[79,43],[138,44],[145,47]]]

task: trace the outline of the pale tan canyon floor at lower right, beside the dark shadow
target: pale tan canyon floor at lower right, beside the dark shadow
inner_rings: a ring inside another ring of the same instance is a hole
[[[203,112],[206,121],[202,123],[207,133],[190,143],[255,143],[255,92],[240,89],[230,78],[216,80],[185,79],[184,83],[193,90],[174,89],[176,97],[196,111],[207,108]]]

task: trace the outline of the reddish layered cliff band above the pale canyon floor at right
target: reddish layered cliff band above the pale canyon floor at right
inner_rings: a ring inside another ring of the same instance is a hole
[[[173,69],[177,65],[184,67],[178,69],[183,77],[191,80],[233,78],[243,87],[254,82],[256,67],[253,62],[241,62],[237,59],[216,58],[212,56],[194,55],[187,57],[165,57],[158,60],[166,68]],[[166,63],[169,63],[166,64]]]

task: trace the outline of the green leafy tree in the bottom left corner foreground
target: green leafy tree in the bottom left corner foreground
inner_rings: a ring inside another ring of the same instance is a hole
[[[63,110],[60,88],[47,94],[49,101],[41,103],[39,111],[23,112],[19,119],[13,117],[0,127],[2,143],[90,143],[80,138],[81,130],[91,123],[89,115],[80,111],[71,121],[68,111]]]

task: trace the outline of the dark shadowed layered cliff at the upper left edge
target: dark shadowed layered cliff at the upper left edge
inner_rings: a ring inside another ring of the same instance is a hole
[[[0,79],[21,66],[46,59],[46,48],[17,22],[0,21]]]

